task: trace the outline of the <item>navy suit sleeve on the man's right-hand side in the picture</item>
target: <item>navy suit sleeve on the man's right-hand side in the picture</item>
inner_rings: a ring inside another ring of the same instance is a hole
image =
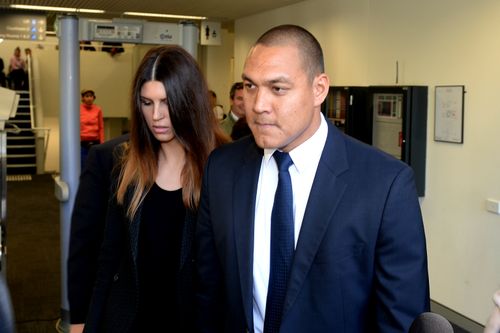
[[[407,332],[429,311],[425,234],[411,168],[395,177],[376,246],[376,321],[380,332]]]

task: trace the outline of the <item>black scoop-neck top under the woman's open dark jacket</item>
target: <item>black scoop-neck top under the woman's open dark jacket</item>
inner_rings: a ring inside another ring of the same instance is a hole
[[[155,183],[144,198],[137,257],[138,331],[180,329],[177,277],[185,214],[182,189],[167,191]]]

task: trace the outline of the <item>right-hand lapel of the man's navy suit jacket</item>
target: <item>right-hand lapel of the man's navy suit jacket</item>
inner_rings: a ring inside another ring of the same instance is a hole
[[[314,177],[295,249],[285,296],[284,317],[301,290],[333,213],[343,196],[347,184],[338,176],[347,169],[344,137],[328,122],[328,137]]]

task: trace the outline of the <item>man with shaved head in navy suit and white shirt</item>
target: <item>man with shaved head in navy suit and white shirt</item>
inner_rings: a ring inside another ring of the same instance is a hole
[[[429,311],[411,168],[323,117],[330,83],[321,46],[303,28],[278,26],[262,35],[243,81],[253,136],[215,150],[203,179],[196,234],[200,330],[268,332],[279,150],[293,162],[295,250],[275,331],[407,332]]]

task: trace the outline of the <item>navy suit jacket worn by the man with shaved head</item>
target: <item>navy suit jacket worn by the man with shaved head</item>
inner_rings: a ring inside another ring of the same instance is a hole
[[[253,332],[253,226],[263,151],[210,156],[197,225],[203,332]],[[406,332],[429,311],[413,172],[328,123],[293,259],[281,332]]]

